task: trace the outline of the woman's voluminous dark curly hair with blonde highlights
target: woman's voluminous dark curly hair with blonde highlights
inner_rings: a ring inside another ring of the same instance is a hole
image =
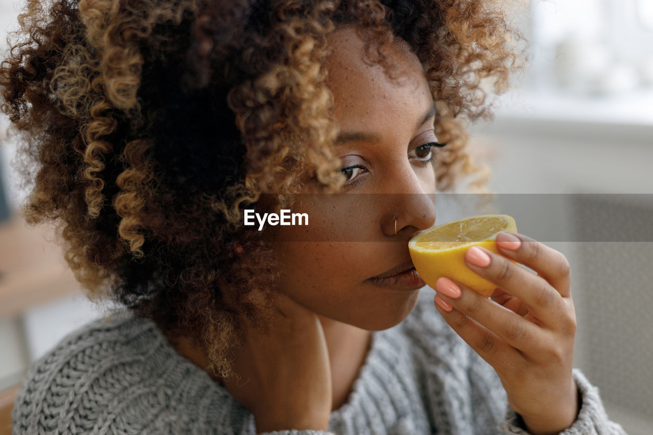
[[[0,68],[20,138],[29,223],[53,221],[90,300],[189,334],[218,376],[244,319],[264,323],[278,265],[245,206],[292,204],[311,174],[344,177],[325,86],[327,35],[355,25],[366,56],[405,40],[438,115],[436,180],[488,170],[464,120],[490,118],[521,39],[483,0],[27,0]]]

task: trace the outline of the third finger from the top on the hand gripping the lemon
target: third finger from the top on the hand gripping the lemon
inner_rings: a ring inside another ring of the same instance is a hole
[[[451,297],[453,286],[460,289],[460,296]],[[486,329],[494,332],[504,342],[526,355],[534,357],[533,349],[544,344],[546,331],[524,317],[503,308],[492,300],[479,295],[466,285],[454,282],[449,278],[439,278],[436,281],[438,296],[455,310],[474,319]],[[447,295],[449,293],[449,295]],[[452,310],[453,311],[453,310]]]

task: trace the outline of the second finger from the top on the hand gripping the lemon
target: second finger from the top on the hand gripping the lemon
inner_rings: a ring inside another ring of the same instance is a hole
[[[537,319],[556,325],[564,301],[547,280],[516,265],[503,255],[478,246],[466,251],[465,261],[479,276],[522,300]],[[477,266],[479,264],[485,266]]]

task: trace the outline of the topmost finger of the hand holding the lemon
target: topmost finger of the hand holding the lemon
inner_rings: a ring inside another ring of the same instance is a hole
[[[509,238],[516,237],[518,242]],[[496,246],[506,257],[535,270],[550,283],[562,297],[571,296],[569,261],[560,252],[537,240],[518,233],[499,233]]]

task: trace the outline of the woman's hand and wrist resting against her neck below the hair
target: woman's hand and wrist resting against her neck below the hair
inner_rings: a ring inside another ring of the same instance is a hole
[[[264,329],[247,328],[234,349],[227,391],[253,413],[257,433],[327,430],[332,406],[331,368],[322,325],[310,310],[275,293],[285,317]]]

